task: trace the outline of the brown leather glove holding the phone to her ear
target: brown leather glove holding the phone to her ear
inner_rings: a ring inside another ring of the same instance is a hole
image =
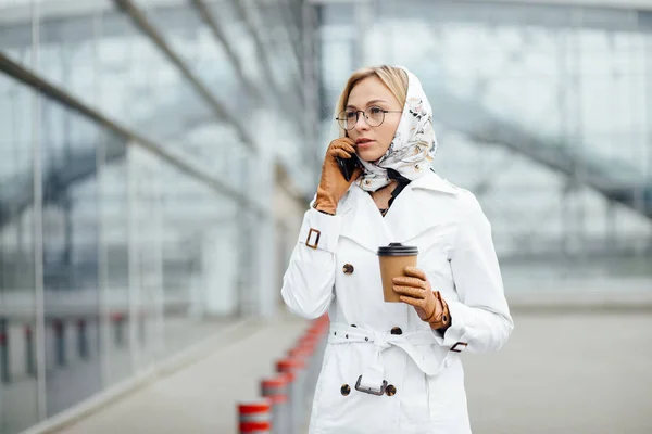
[[[349,187],[362,174],[362,169],[356,167],[353,170],[351,180],[347,181],[335,159],[338,156],[344,159],[355,158],[355,148],[353,148],[353,140],[342,137],[335,139],[328,145],[326,157],[322,165],[322,180],[319,181],[319,187],[317,187],[317,199],[313,205],[315,209],[335,215],[340,199],[342,199]]]

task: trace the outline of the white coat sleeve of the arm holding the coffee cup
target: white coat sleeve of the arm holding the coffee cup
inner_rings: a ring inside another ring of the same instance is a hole
[[[504,296],[491,225],[475,195],[468,191],[460,194],[459,230],[450,255],[460,301],[447,301],[452,324],[438,340],[455,350],[494,352],[507,341],[514,322]]]

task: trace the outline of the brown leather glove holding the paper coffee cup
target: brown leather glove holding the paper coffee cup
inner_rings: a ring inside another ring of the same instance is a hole
[[[401,302],[414,306],[418,317],[432,329],[446,330],[451,324],[448,304],[439,291],[432,291],[426,273],[416,267],[405,267],[405,276],[393,278],[393,290]]]

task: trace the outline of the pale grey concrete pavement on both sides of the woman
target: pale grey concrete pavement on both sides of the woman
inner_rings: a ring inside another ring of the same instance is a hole
[[[475,433],[652,433],[652,312],[514,315],[502,352],[464,355]],[[306,323],[250,324],[205,358],[68,426],[65,434],[236,431],[236,403]]]

